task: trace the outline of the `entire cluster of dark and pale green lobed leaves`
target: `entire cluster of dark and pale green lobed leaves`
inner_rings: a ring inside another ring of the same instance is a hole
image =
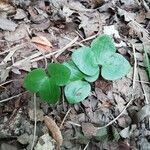
[[[83,101],[91,91],[89,82],[101,75],[107,80],[125,76],[131,66],[120,54],[108,35],[101,35],[92,41],[90,47],[74,50],[71,60],[63,64],[48,64],[47,70],[35,69],[27,74],[23,86],[37,93],[43,101],[55,104],[61,96],[61,87],[70,104]]]

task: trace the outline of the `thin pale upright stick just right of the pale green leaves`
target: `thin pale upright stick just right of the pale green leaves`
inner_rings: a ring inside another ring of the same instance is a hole
[[[135,46],[132,44],[133,49],[133,56],[134,56],[134,71],[133,71],[133,89],[135,88],[135,80],[136,80],[136,74],[137,74],[137,59],[135,55]]]

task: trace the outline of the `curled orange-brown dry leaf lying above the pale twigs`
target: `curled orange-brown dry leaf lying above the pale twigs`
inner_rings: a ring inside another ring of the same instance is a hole
[[[44,36],[36,36],[31,39],[31,42],[35,44],[38,50],[51,51],[52,44]]]

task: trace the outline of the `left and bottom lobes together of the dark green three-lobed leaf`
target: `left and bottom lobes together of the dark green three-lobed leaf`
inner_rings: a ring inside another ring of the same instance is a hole
[[[60,88],[50,79],[44,69],[35,69],[27,74],[23,86],[49,104],[54,104],[60,97]]]

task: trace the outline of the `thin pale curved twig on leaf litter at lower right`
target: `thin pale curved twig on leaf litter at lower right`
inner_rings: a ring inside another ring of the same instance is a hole
[[[124,113],[124,111],[128,108],[128,106],[131,104],[131,102],[133,101],[134,99],[131,99],[127,105],[124,107],[124,109],[121,111],[121,113],[116,117],[114,118],[112,121],[110,121],[108,124],[106,124],[105,126],[102,126],[102,127],[98,127],[97,130],[99,129],[103,129],[103,128],[106,128],[108,126],[110,126],[111,124],[113,124],[116,120],[118,120],[118,118]]]

